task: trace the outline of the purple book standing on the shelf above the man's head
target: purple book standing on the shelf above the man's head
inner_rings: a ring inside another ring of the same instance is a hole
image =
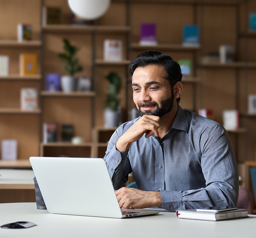
[[[140,45],[157,45],[157,25],[155,23],[140,24]]]

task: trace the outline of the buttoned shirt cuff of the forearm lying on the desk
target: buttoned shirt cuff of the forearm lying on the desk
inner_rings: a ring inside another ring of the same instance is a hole
[[[179,191],[160,190],[162,208],[170,212],[182,210],[182,197]]]

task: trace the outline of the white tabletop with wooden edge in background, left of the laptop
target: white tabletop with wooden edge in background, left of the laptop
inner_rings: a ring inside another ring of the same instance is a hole
[[[33,170],[0,169],[0,189],[35,189]]]

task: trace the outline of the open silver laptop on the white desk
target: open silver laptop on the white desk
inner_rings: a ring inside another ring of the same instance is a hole
[[[101,158],[30,157],[48,212],[132,218],[159,211],[120,209],[105,161]]]

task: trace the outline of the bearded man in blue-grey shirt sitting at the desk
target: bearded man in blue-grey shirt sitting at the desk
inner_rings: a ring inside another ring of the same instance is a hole
[[[222,125],[179,106],[180,66],[158,51],[129,65],[139,118],[110,138],[104,160],[120,208],[236,206],[238,171]],[[138,189],[121,188],[133,172]]]

